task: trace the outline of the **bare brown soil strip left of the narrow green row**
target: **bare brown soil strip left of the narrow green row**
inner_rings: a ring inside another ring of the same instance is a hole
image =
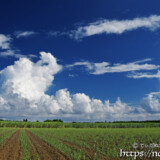
[[[20,134],[21,130],[19,129],[3,142],[0,146],[0,160],[22,159]]]

